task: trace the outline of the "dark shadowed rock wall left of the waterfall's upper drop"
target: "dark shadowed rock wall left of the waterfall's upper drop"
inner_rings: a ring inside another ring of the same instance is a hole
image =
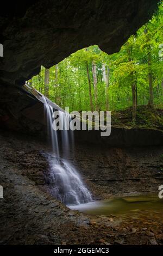
[[[42,95],[29,86],[2,86],[0,95],[0,127],[3,129],[46,135],[46,118]],[[53,109],[60,109],[52,101],[47,101]]]

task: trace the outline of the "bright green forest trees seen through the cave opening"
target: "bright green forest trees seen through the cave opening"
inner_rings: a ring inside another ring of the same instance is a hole
[[[70,111],[115,111],[138,105],[163,107],[163,7],[131,35],[120,52],[107,54],[93,45],[71,54],[28,81]]]

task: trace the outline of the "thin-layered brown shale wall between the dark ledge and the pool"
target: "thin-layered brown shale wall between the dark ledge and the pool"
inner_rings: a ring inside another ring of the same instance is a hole
[[[95,198],[158,193],[163,183],[163,147],[77,145],[74,159]]]

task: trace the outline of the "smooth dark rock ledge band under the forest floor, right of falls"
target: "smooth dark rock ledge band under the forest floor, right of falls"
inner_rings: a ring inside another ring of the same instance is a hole
[[[131,147],[162,145],[162,130],[145,128],[125,128],[111,126],[110,136],[101,137],[101,131],[74,131],[77,142],[104,147]]]

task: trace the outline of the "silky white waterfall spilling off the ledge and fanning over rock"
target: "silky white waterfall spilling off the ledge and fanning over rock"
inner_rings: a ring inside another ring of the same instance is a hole
[[[58,132],[52,128],[53,108],[48,104],[44,96],[44,108],[47,118],[48,136],[51,139],[53,157],[48,158],[50,175],[48,178],[51,194],[66,205],[76,205],[92,201],[91,193],[84,185],[77,170],[66,159],[60,157]],[[68,130],[70,115],[59,111],[59,120],[64,130],[61,131],[61,146],[63,156],[67,156],[73,143],[73,132]],[[55,123],[55,122],[54,122]]]

